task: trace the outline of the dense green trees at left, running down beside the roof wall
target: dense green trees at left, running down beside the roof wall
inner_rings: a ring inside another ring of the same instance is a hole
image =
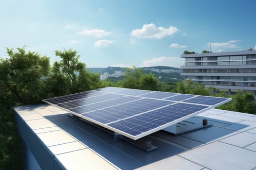
[[[21,141],[12,106],[99,88],[101,82],[71,49],[56,51],[61,60],[52,67],[49,57],[24,47],[7,53],[9,58],[0,59],[0,170],[15,170],[21,169]]]

